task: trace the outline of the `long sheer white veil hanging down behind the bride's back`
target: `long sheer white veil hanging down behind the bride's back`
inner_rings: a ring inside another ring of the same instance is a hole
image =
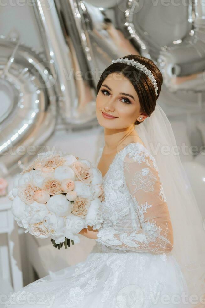
[[[157,103],[151,116],[135,125],[135,129],[155,158],[159,169],[174,233],[174,246],[170,253],[180,265],[189,289],[189,297],[197,295],[197,303],[205,304],[203,219],[181,164],[179,146],[176,145],[170,121]]]

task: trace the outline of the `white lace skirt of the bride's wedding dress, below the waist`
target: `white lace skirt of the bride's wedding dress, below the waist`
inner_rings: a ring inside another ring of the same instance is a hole
[[[8,299],[5,308],[192,307],[171,253],[107,248],[96,242],[87,259],[45,276]]]

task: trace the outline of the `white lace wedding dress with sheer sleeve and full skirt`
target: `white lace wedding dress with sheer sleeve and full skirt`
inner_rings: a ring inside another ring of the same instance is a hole
[[[87,259],[13,293],[5,308],[190,307],[180,302],[187,284],[172,256],[154,157],[141,143],[129,143],[114,157],[103,188],[104,222]]]

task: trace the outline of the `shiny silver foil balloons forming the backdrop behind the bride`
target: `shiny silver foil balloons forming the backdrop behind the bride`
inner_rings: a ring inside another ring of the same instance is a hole
[[[97,82],[111,60],[124,55],[141,54],[158,65],[164,78],[159,103],[174,107],[173,115],[189,112],[187,123],[191,112],[204,117],[203,1],[34,3],[30,9],[44,43],[43,56],[19,42],[0,41],[0,87],[10,97],[0,111],[2,173],[27,157],[10,155],[12,146],[28,147],[49,137],[56,104],[66,127],[97,124]]]

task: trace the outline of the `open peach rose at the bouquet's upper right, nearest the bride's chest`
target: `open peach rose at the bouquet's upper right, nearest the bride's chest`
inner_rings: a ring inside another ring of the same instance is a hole
[[[84,183],[91,183],[93,174],[91,168],[83,162],[74,162],[71,168],[75,172],[77,178]]]

